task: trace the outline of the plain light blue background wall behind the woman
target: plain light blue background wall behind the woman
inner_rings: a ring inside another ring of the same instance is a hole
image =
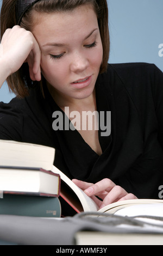
[[[163,0],[108,0],[108,7],[109,62],[148,62],[163,71],[163,57],[159,57],[159,45],[163,44]],[[0,101],[9,102],[13,96],[4,83]]]

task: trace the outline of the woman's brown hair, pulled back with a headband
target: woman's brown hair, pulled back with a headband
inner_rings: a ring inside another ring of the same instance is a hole
[[[3,0],[1,9],[1,39],[7,28],[12,28],[17,24],[16,21],[16,7],[17,0]],[[106,0],[40,0],[30,8],[23,15],[21,20],[21,27],[31,30],[34,24],[32,23],[33,10],[38,12],[52,13],[54,11],[71,11],[80,5],[91,4],[97,14],[99,31],[103,44],[103,62],[100,72],[105,72],[108,65],[110,39],[108,29],[108,7]],[[22,67],[7,78],[9,89],[17,96],[24,97],[28,95],[28,88],[33,87],[34,84],[42,82],[34,82],[30,80],[28,66],[26,63]]]

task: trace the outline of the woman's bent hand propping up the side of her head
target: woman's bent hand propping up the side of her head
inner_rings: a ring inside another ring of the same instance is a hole
[[[7,67],[8,75],[28,62],[30,78],[33,81],[41,80],[40,47],[31,32],[20,26],[9,28],[3,34],[0,47],[0,59]]]

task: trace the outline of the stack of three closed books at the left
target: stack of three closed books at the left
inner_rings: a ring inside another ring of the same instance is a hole
[[[60,175],[55,149],[0,140],[0,214],[60,217]]]

